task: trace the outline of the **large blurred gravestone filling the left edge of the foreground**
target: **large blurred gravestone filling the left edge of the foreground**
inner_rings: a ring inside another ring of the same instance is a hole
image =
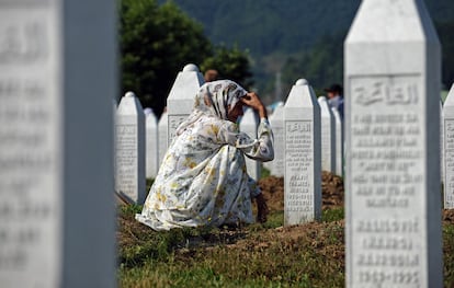
[[[113,1],[0,1],[2,288],[116,286],[115,15]]]

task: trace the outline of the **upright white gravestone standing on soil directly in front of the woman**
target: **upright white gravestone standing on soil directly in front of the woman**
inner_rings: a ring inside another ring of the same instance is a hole
[[[321,214],[320,107],[305,79],[293,85],[284,108],[284,224],[319,219]]]

